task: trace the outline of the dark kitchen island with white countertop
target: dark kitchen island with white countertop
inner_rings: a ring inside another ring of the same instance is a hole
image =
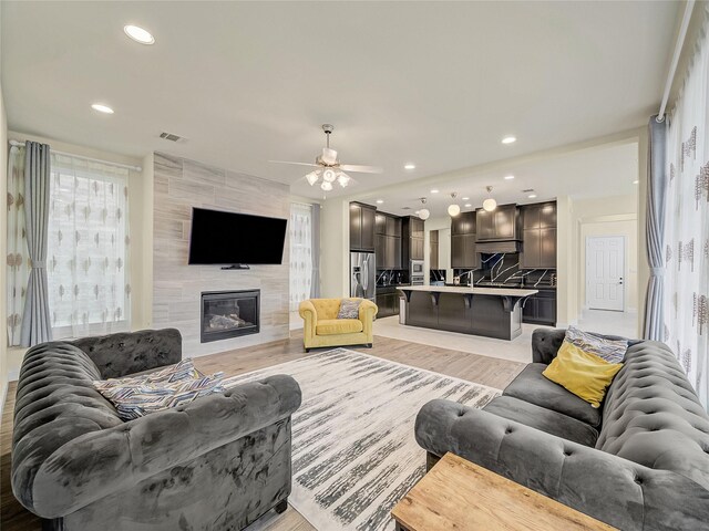
[[[463,285],[410,285],[400,290],[407,300],[407,325],[500,340],[514,340],[522,333],[521,302],[538,292]]]

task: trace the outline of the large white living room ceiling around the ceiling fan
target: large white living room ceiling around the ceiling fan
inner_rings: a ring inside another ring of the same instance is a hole
[[[357,191],[638,127],[680,2],[0,2],[9,127],[291,184],[336,126]],[[153,46],[123,25],[151,30]],[[113,106],[97,115],[94,102]],[[163,131],[188,138],[172,144]],[[514,134],[516,144],[500,139]],[[407,171],[403,164],[417,169]],[[515,183],[516,185],[517,183]],[[348,190],[354,191],[354,190]]]

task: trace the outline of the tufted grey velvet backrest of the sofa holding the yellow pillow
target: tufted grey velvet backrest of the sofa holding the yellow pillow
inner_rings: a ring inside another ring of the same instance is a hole
[[[628,348],[608,388],[596,448],[709,488],[709,416],[664,343]]]

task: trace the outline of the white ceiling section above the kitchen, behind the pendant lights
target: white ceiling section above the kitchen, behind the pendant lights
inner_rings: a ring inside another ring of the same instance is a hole
[[[638,178],[636,142],[494,166],[494,169],[482,171],[462,171],[463,175],[456,177],[370,191],[358,197],[358,200],[374,205],[379,210],[404,216],[421,208],[419,198],[425,197],[431,216],[438,217],[446,216],[448,206],[452,202],[452,191],[458,192],[455,202],[463,211],[480,208],[487,197],[486,186],[493,187],[491,196],[500,205],[541,202],[561,196],[593,199],[637,194],[637,185],[633,184]],[[506,180],[504,177],[510,175],[514,179]],[[530,188],[534,189],[536,198],[530,198],[530,192],[522,191]],[[439,192],[431,194],[432,189],[438,189]],[[463,197],[470,199],[463,200]],[[383,204],[377,204],[378,199],[383,200]],[[465,204],[471,204],[472,207],[466,208]]]

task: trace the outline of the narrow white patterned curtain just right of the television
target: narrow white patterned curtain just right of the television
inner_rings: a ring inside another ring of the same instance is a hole
[[[290,205],[290,311],[310,298],[312,285],[312,205]]]

